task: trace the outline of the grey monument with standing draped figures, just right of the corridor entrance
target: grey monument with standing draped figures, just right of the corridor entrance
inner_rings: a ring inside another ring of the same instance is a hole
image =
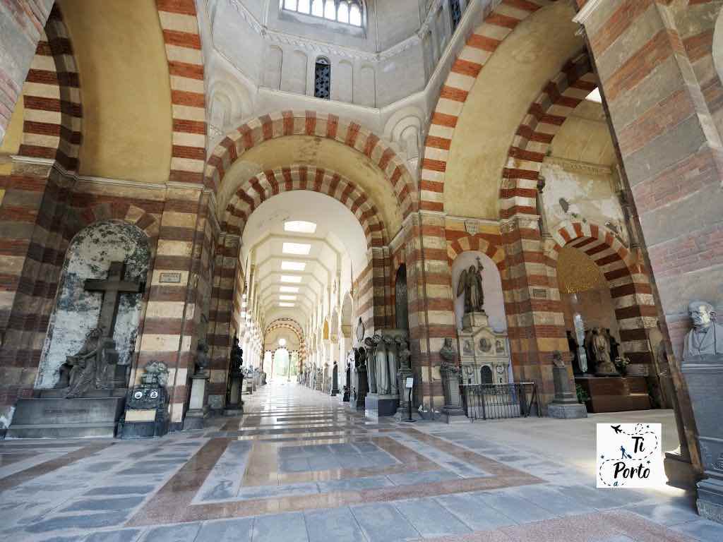
[[[369,393],[364,413],[369,418],[393,416],[399,407],[401,359],[408,358],[406,330],[380,330],[364,337]]]

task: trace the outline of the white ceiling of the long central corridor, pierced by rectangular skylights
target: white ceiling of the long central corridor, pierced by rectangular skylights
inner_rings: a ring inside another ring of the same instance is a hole
[[[291,220],[315,223],[316,231],[286,231],[284,223]],[[285,253],[284,243],[309,245],[309,253]],[[309,322],[320,308],[328,308],[329,292],[338,275],[357,275],[367,265],[367,240],[359,220],[336,199],[306,190],[283,192],[257,207],[244,229],[241,246],[244,262],[253,257],[254,288],[263,321],[268,323],[279,318]],[[284,261],[304,264],[304,269],[283,270]],[[284,283],[283,276],[297,277],[299,283]],[[282,295],[295,298],[282,299]],[[294,306],[281,306],[284,301]]]

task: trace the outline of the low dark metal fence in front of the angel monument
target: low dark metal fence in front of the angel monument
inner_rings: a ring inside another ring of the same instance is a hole
[[[534,382],[469,384],[462,386],[465,413],[471,421],[540,416]]]

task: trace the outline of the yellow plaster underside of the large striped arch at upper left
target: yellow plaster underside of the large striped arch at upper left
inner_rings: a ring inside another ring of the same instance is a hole
[[[59,0],[80,73],[81,175],[161,183],[171,85],[153,0]]]

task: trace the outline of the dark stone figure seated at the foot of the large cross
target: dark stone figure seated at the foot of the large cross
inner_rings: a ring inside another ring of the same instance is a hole
[[[85,343],[78,353],[74,356],[67,356],[65,363],[61,366],[61,379],[58,387],[68,388],[66,394],[68,399],[81,397],[93,388],[102,390],[111,387],[110,380],[113,375],[112,371],[108,370],[109,364],[104,356],[103,346],[103,330],[96,327],[87,333]]]

